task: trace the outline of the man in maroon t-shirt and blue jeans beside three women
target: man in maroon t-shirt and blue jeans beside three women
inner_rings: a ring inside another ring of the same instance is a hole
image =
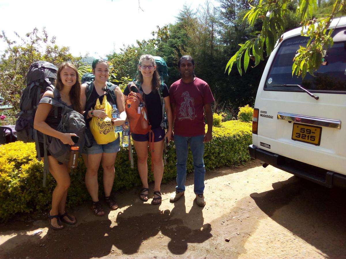
[[[174,144],[176,150],[175,192],[170,201],[180,199],[185,192],[186,161],[188,148],[193,157],[194,193],[199,206],[206,205],[204,200],[204,143],[212,138],[213,114],[211,103],[214,97],[209,85],[194,75],[194,60],[191,56],[182,56],[178,63],[181,79],[170,87],[170,99],[174,122]],[[204,113],[206,111],[208,131],[205,132]]]

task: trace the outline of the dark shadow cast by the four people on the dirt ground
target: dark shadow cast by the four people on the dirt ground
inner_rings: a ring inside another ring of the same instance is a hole
[[[206,186],[213,178],[232,173],[240,173],[248,168],[261,165],[252,161],[247,166],[223,167],[206,173]],[[193,185],[193,173],[187,175],[186,186]],[[124,211],[110,213],[103,203],[106,214],[95,217],[90,204],[84,204],[71,211],[79,223],[67,226],[61,231],[49,229],[47,234],[30,236],[29,229],[35,230],[48,226],[48,221],[10,222],[1,231],[17,234],[0,245],[0,253],[5,258],[92,258],[107,255],[133,255],[143,252],[143,255],[153,251],[153,238],[163,251],[168,250],[173,255],[183,255],[189,243],[203,243],[212,237],[211,225],[203,224],[203,208],[195,201],[190,211],[186,211],[185,197],[174,203],[170,210],[160,210],[160,206],[142,203],[138,199],[140,188],[129,191],[117,191],[115,197],[119,208]],[[153,185],[149,185],[149,198],[153,194]],[[162,184],[163,199],[168,202],[170,193],[175,190],[175,180]],[[190,202],[190,201],[186,201]],[[163,206],[162,206],[163,207]],[[165,207],[167,208],[167,207]],[[190,208],[190,206],[189,206]],[[151,249],[151,250],[148,250]],[[159,250],[159,249],[158,249]],[[155,252],[155,251],[154,251]],[[166,256],[166,253],[162,254]]]

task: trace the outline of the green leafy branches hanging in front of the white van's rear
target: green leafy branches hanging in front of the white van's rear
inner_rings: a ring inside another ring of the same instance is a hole
[[[254,66],[257,66],[261,60],[264,60],[264,52],[267,56],[270,55],[276,41],[285,32],[289,5],[288,0],[260,0],[256,7],[250,4],[251,10],[246,13],[244,19],[247,19],[251,27],[260,19],[262,28],[260,31],[252,33],[254,38],[247,40],[244,44],[239,44],[240,49],[226,65],[225,71],[228,69],[228,74],[236,64],[239,74],[242,75],[242,60],[246,72],[250,59],[254,59]],[[323,51],[333,45],[331,38],[333,30],[328,30],[331,20],[346,13],[345,0],[335,0],[330,14],[322,18],[315,17],[316,7],[317,0],[299,0],[296,17],[301,21],[302,33],[306,29],[305,36],[310,39],[306,47],[300,46],[300,49],[297,50],[297,54],[293,58],[292,75],[295,73],[297,76],[304,77],[307,71],[313,75],[313,72],[321,65]],[[243,55],[244,58],[242,58]]]

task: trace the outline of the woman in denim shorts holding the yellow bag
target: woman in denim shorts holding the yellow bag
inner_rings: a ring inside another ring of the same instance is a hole
[[[99,96],[102,96],[105,91],[104,88],[107,87],[107,79],[109,76],[109,69],[107,61],[103,59],[94,59],[92,63],[92,73],[95,75],[95,80],[92,82],[93,89],[88,100],[86,100],[85,90],[87,84],[82,85],[82,107],[85,110],[85,116],[87,118],[87,124],[90,119],[95,116],[99,118],[106,118],[107,114],[104,110],[94,110],[95,101]],[[107,101],[113,105],[116,104],[119,109],[120,118],[111,118],[113,126],[121,126],[125,123],[126,113],[125,113],[125,101],[124,96],[119,87],[116,87],[114,90],[116,96],[116,103],[112,103],[112,97],[110,94],[107,94]],[[100,98],[100,103],[102,103],[103,96]],[[92,109],[91,109],[92,108]],[[91,138],[92,135],[88,134]],[[118,208],[118,204],[110,196],[113,182],[115,178],[114,163],[117,156],[117,152],[120,149],[120,136],[108,144],[100,145],[96,141],[92,140],[92,146],[87,148],[86,154],[83,154],[85,164],[87,165],[87,170],[85,174],[85,185],[89,191],[89,194],[92,199],[91,208],[94,211],[95,215],[103,216],[104,211],[101,207],[101,203],[98,197],[99,185],[97,171],[99,169],[100,163],[103,168],[103,188],[105,201],[109,205],[110,209],[115,210]]]

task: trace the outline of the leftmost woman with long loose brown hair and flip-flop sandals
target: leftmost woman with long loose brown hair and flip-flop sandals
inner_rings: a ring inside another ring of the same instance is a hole
[[[82,112],[80,101],[81,83],[74,65],[63,63],[59,67],[55,87],[59,90],[63,102],[73,106],[75,111]],[[53,92],[49,90],[43,96],[54,98]],[[60,112],[58,111],[58,117],[55,118],[52,108],[53,106],[48,103],[40,103],[38,105],[34,128],[46,135],[60,139],[64,144],[74,145],[71,136],[76,136],[76,134],[62,133],[55,130],[61,119],[61,109]],[[43,152],[40,153],[43,154]],[[44,160],[43,157],[42,160]],[[44,161],[44,163],[46,162]],[[51,155],[48,155],[48,162],[49,172],[57,183],[52,195],[52,209],[49,211],[49,220],[53,229],[60,230],[64,228],[61,221],[71,225],[77,222],[73,215],[65,212],[67,190],[70,186],[70,168],[67,164],[59,163]]]

